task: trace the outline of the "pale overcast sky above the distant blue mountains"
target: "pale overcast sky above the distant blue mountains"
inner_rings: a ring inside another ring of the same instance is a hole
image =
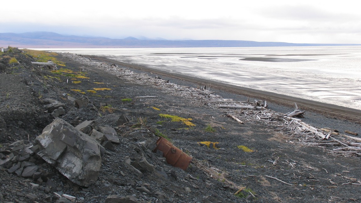
[[[0,32],[361,44],[356,0],[6,0]]]

